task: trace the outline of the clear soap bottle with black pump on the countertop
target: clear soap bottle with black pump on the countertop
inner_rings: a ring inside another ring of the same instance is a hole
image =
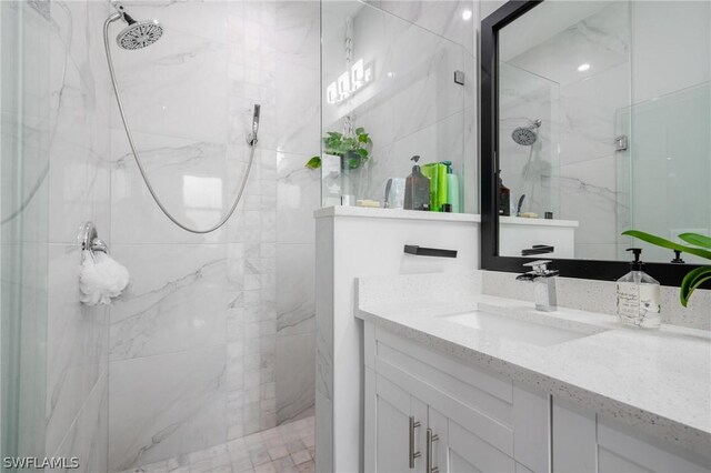
[[[639,248],[627,251],[634,253],[632,271],[618,280],[618,318],[620,323],[642,329],[659,329],[661,325],[661,286],[652,276],[642,271]]]

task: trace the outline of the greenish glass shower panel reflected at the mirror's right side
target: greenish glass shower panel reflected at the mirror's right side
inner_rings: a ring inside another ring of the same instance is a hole
[[[629,224],[620,231],[632,228],[679,242],[680,233],[710,234],[711,82],[620,110],[618,125],[619,134],[630,137],[618,168],[620,189],[629,193],[629,208],[619,208]],[[643,248],[645,260],[673,258],[670,250]],[[703,262],[688,254],[684,260]]]

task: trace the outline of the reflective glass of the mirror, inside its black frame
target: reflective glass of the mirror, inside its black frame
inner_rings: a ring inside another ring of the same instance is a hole
[[[710,31],[693,1],[545,1],[500,31],[499,254],[670,262],[621,233],[710,234]]]

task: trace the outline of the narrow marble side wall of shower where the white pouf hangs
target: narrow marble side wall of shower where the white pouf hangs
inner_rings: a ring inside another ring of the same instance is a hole
[[[49,83],[47,455],[106,471],[109,309],[79,302],[77,234],[96,223],[111,246],[109,76],[101,28],[109,6],[51,3]],[[96,27],[96,28],[94,28]]]

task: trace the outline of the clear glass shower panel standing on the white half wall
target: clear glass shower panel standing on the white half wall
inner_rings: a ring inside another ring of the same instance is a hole
[[[409,175],[415,154],[421,164],[452,161],[463,182],[469,92],[453,78],[470,70],[471,54],[360,1],[322,2],[321,22],[322,132],[331,137],[322,149],[323,207],[341,195],[382,203],[388,180]],[[341,135],[358,140],[359,131],[368,138],[356,148],[365,151],[340,152]]]

